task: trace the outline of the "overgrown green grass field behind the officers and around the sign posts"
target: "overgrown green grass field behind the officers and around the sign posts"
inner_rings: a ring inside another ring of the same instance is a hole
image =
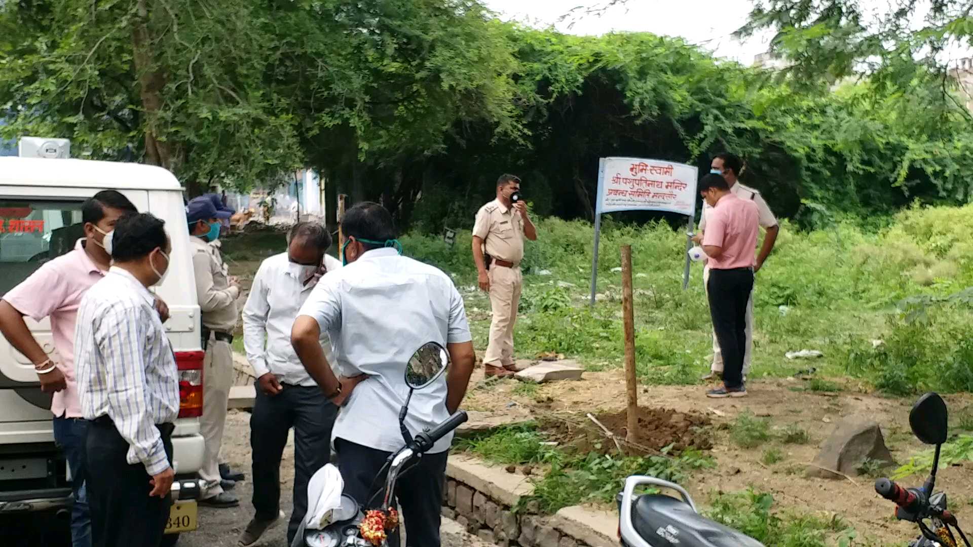
[[[589,370],[622,366],[622,282],[612,269],[620,266],[619,246],[631,244],[638,379],[698,383],[711,353],[709,313],[699,265],[682,290],[685,237],[679,231],[605,217],[598,299],[590,309],[591,224],[552,218],[536,224],[538,241],[525,243],[522,312],[515,329],[520,356],[556,351],[580,359]],[[896,310],[909,297],[945,296],[973,286],[970,232],[973,205],[910,209],[881,232],[842,223],[803,233],[784,222],[774,254],[757,275],[752,376],[793,375],[808,363],[783,355],[807,347],[824,353],[812,365],[823,378],[851,376],[900,395],[973,390],[973,372],[964,366],[973,359],[973,340],[964,343],[969,337],[961,334],[973,330],[973,316],[955,303],[934,306],[920,323],[915,314]],[[489,301],[475,286],[469,233],[460,232],[452,247],[435,236],[410,234],[402,241],[407,255],[453,275],[476,346],[485,347]],[[541,270],[551,274],[537,274]],[[950,275],[939,275],[944,272]],[[885,344],[875,348],[874,340]],[[809,387],[835,391],[841,383],[817,380]]]

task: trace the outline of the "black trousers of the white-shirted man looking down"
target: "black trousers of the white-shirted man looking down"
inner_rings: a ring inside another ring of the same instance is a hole
[[[276,518],[280,511],[280,459],[287,433],[294,428],[294,512],[287,525],[290,545],[307,512],[307,482],[331,458],[331,428],[338,408],[316,385],[282,386],[280,393],[272,397],[257,386],[250,416],[250,448],[257,518]]]

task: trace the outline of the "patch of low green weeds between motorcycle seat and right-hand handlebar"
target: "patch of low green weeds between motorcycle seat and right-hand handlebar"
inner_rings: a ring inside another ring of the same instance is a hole
[[[840,517],[774,511],[770,493],[716,493],[710,499],[709,518],[737,529],[764,545],[775,547],[825,547],[851,545],[854,529]]]

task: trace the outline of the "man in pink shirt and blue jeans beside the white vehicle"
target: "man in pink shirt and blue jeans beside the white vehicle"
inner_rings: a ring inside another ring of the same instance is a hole
[[[85,492],[85,421],[75,385],[74,326],[78,306],[88,289],[108,271],[111,235],[118,219],[138,212],[131,201],[114,191],[98,192],[82,204],[85,238],[74,250],[41,266],[0,300],[0,332],[33,363],[45,393],[53,393],[54,442],[71,469],[74,507],[71,511],[73,547],[90,547],[90,517]],[[164,305],[160,304],[163,320]],[[60,358],[49,358],[37,344],[23,317],[51,318],[54,348]]]

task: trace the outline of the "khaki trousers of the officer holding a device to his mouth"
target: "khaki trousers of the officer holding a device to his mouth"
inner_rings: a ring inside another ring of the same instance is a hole
[[[521,269],[493,265],[489,269],[489,304],[493,320],[484,364],[494,367],[514,364],[514,323],[521,303]]]

